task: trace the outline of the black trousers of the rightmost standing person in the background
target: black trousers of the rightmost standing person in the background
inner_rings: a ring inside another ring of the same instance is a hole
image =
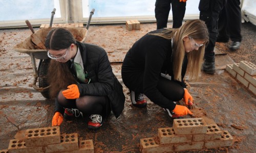
[[[240,0],[227,0],[218,21],[218,37],[232,41],[242,41]]]

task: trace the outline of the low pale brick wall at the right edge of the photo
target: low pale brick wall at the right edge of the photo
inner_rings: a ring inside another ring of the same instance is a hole
[[[226,66],[226,70],[256,95],[256,65],[249,61],[241,61]]]

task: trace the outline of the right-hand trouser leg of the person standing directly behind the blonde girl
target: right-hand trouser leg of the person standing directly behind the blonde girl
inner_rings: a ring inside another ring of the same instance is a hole
[[[172,1],[173,28],[180,28],[186,11],[186,2]]]

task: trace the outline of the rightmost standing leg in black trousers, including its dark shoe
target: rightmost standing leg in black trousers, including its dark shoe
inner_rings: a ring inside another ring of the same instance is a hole
[[[240,0],[227,0],[226,10],[229,36],[232,41],[229,48],[238,49],[242,41]]]

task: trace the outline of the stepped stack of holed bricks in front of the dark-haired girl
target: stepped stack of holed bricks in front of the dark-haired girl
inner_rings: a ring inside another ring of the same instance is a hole
[[[60,134],[59,126],[29,129],[24,139],[10,140],[8,150],[0,152],[87,152],[93,153],[92,140],[78,141],[77,133]]]

